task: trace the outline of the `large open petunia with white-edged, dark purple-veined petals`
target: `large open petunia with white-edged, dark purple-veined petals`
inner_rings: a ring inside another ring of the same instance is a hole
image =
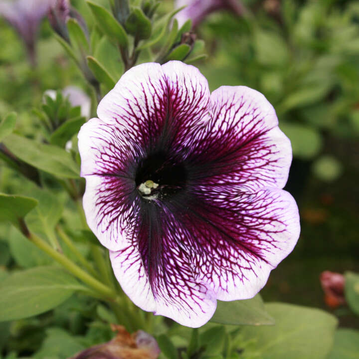
[[[253,297],[294,248],[292,160],[271,104],[210,94],[179,61],[131,68],[79,132],[87,222],[145,311],[199,327],[216,300]]]

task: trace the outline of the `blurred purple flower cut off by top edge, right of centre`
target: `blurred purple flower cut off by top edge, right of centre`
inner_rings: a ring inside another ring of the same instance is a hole
[[[207,15],[220,9],[227,9],[235,14],[243,15],[244,7],[239,0],[176,0],[176,8],[186,6],[176,14],[179,26],[189,18],[196,27]]]

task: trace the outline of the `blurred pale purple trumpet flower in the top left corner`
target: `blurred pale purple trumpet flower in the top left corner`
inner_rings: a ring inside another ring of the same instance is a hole
[[[0,16],[9,22],[23,39],[30,63],[35,66],[35,41],[39,24],[53,0],[15,0],[0,2]]]

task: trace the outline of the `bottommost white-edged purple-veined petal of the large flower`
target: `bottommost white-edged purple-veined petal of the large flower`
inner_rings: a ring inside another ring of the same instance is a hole
[[[200,327],[212,317],[216,299],[210,288],[195,279],[193,261],[188,261],[173,221],[164,217],[157,228],[154,223],[142,224],[138,235],[143,231],[145,238],[140,238],[139,249],[129,245],[110,252],[112,267],[124,292],[140,308],[181,325]]]

